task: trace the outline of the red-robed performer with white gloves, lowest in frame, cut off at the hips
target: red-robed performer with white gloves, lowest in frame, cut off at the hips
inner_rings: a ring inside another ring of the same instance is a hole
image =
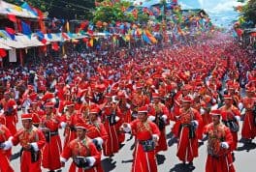
[[[101,166],[101,152],[97,150],[92,140],[86,135],[86,125],[84,123],[76,124],[78,137],[72,140],[64,148],[60,160],[62,166],[69,158],[73,162],[69,172],[103,172]]]

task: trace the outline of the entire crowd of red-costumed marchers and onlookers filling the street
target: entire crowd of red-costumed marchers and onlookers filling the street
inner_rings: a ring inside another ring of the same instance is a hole
[[[14,171],[17,144],[21,172],[61,171],[70,158],[70,172],[102,172],[102,156],[118,154],[128,134],[135,145],[131,171],[156,172],[169,132],[177,142],[173,156],[184,165],[207,141],[206,172],[235,172],[238,142],[256,136],[255,56],[221,33],[160,50],[71,51],[0,75],[1,172]]]

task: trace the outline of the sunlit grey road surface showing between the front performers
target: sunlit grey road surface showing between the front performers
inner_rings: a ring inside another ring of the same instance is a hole
[[[167,128],[167,133],[170,132],[172,127],[171,125]],[[20,120],[17,124],[18,128],[21,128]],[[60,135],[62,134],[60,131]],[[126,135],[126,140],[129,139],[130,135]],[[240,138],[240,135],[239,135]],[[63,138],[62,138],[63,140]],[[131,146],[134,140],[126,141],[124,146],[121,148],[118,154],[116,154],[112,159],[102,158],[102,164],[105,169],[105,172],[129,172],[132,166],[132,151]],[[248,147],[242,147],[243,144],[239,143],[239,151],[236,151],[236,161],[235,167],[237,172],[255,172],[255,159],[256,159],[256,139],[254,139],[254,144],[251,144]],[[191,168],[184,167],[180,161],[176,158],[176,143],[174,139],[171,139],[171,136],[168,135],[168,151],[161,152],[157,157],[158,160],[158,171],[159,172],[204,172],[205,164],[207,158],[207,143],[201,145],[199,148],[199,158],[194,160],[194,166]],[[13,153],[18,152],[20,147],[16,146],[13,149]],[[71,160],[66,163],[66,166],[63,168],[63,171],[68,171],[68,167]],[[12,160],[12,166],[15,168],[15,171],[19,171],[19,158]],[[47,171],[43,169],[43,171]]]

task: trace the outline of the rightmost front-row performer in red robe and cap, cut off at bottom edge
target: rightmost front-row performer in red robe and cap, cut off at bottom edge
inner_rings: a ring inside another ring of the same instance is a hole
[[[212,123],[205,127],[208,135],[208,159],[206,172],[235,172],[231,156],[233,136],[229,128],[220,122],[221,110],[210,111]]]

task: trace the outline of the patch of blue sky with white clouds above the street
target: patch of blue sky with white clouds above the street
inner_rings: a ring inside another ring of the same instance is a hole
[[[241,5],[237,0],[178,0],[181,9],[204,9],[212,22],[218,26],[230,27],[238,18],[233,7]]]

